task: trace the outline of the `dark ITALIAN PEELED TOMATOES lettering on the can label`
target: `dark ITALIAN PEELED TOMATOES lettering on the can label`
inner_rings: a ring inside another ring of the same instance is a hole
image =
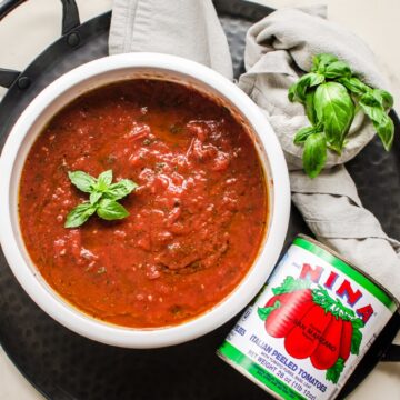
[[[287,367],[289,370],[297,372],[296,376],[301,377],[304,381],[307,381],[308,383],[320,390],[322,393],[327,390],[327,387],[323,383],[321,383],[317,378],[314,378],[311,373],[307,372],[302,368],[299,368],[297,363],[290,361],[286,356],[283,356],[278,350],[273,349],[272,346],[266,343],[256,334],[252,334],[250,337],[250,341],[257,344],[260,349],[262,349],[263,352],[268,353],[270,358],[279,361],[280,364]],[[261,356],[258,356],[258,362],[269,370],[272,369],[274,370],[277,368]]]

